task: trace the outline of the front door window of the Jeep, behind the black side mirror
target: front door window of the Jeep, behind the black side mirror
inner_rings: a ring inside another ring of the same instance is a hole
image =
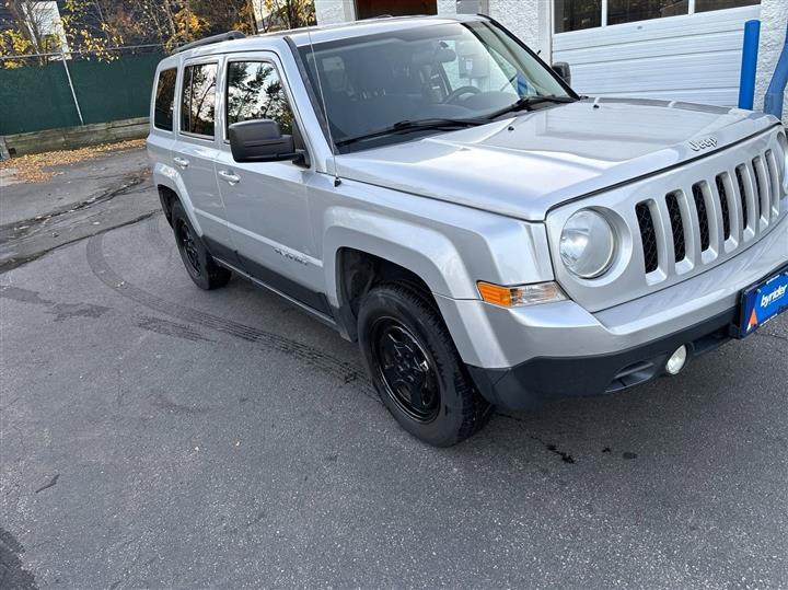
[[[282,134],[292,134],[292,111],[274,65],[232,61],[228,65],[227,127],[251,119],[273,119]]]

